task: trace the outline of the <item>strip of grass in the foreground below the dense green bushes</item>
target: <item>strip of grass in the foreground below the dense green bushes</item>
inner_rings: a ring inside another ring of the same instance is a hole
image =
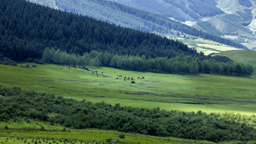
[[[3,126],[8,126],[4,129]],[[44,127],[44,131],[40,130]],[[122,133],[125,135],[124,139],[118,138],[121,132],[113,130],[74,130],[66,128],[63,131],[63,126],[51,125],[47,122],[0,122],[0,143],[2,144],[104,144],[106,139],[114,138],[120,142],[127,142],[128,144],[214,144],[204,140],[186,140],[179,138],[166,138],[149,136],[143,134]],[[24,142],[26,141],[26,142]]]

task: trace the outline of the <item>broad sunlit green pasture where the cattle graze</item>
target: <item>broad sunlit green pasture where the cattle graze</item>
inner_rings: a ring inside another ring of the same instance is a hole
[[[235,112],[255,114],[256,79],[211,74],[163,74],[134,72],[107,67],[88,67],[104,72],[102,77],[71,70],[61,65],[29,64],[30,68],[0,65],[0,85],[20,87],[91,102],[120,103],[165,110],[203,112]],[[122,75],[116,80],[116,75]],[[124,76],[135,78],[136,84],[124,81]],[[145,77],[138,80],[137,78]],[[152,77],[152,78],[151,78]]]

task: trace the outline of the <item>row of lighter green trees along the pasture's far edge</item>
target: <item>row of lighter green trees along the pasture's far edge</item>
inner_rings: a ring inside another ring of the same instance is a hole
[[[52,64],[72,64],[78,66],[108,66],[124,70],[167,72],[167,73],[214,73],[228,74],[236,76],[251,75],[254,71],[249,64],[237,62],[218,62],[212,59],[199,60],[192,56],[176,56],[173,58],[156,57],[146,58],[146,56],[117,55],[108,52],[97,52],[92,50],[82,56],[74,53],[68,54],[59,49],[46,48],[42,60]],[[218,60],[218,59],[216,59]],[[219,60],[221,60],[219,58]]]

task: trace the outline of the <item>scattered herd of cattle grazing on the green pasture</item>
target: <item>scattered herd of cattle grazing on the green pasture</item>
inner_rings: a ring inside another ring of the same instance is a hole
[[[72,65],[70,64],[69,66],[67,66],[67,65],[65,65],[65,67],[68,67],[68,70],[70,70]],[[73,68],[75,68],[75,69],[77,69],[76,68],[76,66],[73,66]],[[78,67],[78,68],[81,68],[80,66]],[[108,74],[104,74],[104,72],[98,72],[98,71],[96,71],[96,70],[94,70],[94,71],[91,71],[91,70],[89,70],[88,68],[83,68],[82,70],[81,69],[77,69],[78,70],[78,72],[84,72],[84,70],[86,71],[87,70],[87,72],[88,72],[88,74],[90,74],[90,75],[94,75],[94,76],[103,76],[103,77],[111,77],[111,76],[109,76]],[[116,79],[116,80],[121,80],[122,79],[122,75],[116,75],[117,76],[117,78],[114,78],[114,79]],[[151,77],[152,78],[152,77]],[[142,78],[140,78],[140,77],[138,77],[137,78],[138,80],[142,80],[142,79],[144,79],[144,77],[142,77]],[[123,79],[124,81],[126,81],[126,80],[135,80],[135,78],[133,78],[133,77],[124,77],[124,79]]]

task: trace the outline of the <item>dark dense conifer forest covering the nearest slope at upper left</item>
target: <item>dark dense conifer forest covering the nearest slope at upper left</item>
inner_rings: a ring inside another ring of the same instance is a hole
[[[0,52],[13,60],[41,58],[46,47],[80,55],[97,50],[147,58],[203,57],[182,42],[24,0],[1,1],[0,16]]]

